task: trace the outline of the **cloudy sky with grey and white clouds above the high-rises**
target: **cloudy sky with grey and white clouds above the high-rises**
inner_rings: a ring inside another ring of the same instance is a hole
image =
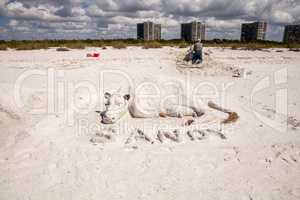
[[[2,40],[134,38],[145,20],[161,23],[164,39],[192,20],[208,39],[239,39],[241,23],[266,20],[267,39],[281,40],[284,24],[300,22],[300,0],[0,0]]]

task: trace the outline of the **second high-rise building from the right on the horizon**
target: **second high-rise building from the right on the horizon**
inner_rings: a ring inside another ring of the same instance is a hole
[[[257,40],[265,40],[267,32],[266,22],[254,22],[242,24],[241,41],[254,42]]]

